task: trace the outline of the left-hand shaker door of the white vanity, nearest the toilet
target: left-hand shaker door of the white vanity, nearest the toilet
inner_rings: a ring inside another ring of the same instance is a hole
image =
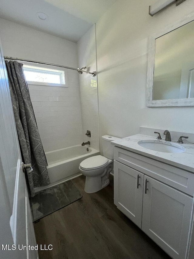
[[[138,227],[142,226],[144,174],[114,160],[114,203]]]

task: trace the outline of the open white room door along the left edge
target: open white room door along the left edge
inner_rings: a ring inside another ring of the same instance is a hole
[[[18,245],[21,249],[21,245],[34,246],[36,242],[1,43],[0,219],[0,258],[38,258],[35,250],[18,250]]]

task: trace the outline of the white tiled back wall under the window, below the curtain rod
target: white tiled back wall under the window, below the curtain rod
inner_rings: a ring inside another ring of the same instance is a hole
[[[67,71],[69,87],[28,85],[45,152],[82,143],[77,73]]]

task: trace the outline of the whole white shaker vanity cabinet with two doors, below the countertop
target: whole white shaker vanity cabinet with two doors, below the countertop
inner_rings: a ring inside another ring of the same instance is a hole
[[[194,174],[114,148],[114,203],[172,258],[188,254]]]

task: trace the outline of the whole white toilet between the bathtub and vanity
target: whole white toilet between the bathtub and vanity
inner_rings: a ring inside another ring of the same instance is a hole
[[[86,176],[86,193],[95,193],[109,185],[109,174],[113,169],[113,148],[111,141],[116,137],[102,136],[103,155],[95,155],[83,160],[79,165],[79,171]]]

